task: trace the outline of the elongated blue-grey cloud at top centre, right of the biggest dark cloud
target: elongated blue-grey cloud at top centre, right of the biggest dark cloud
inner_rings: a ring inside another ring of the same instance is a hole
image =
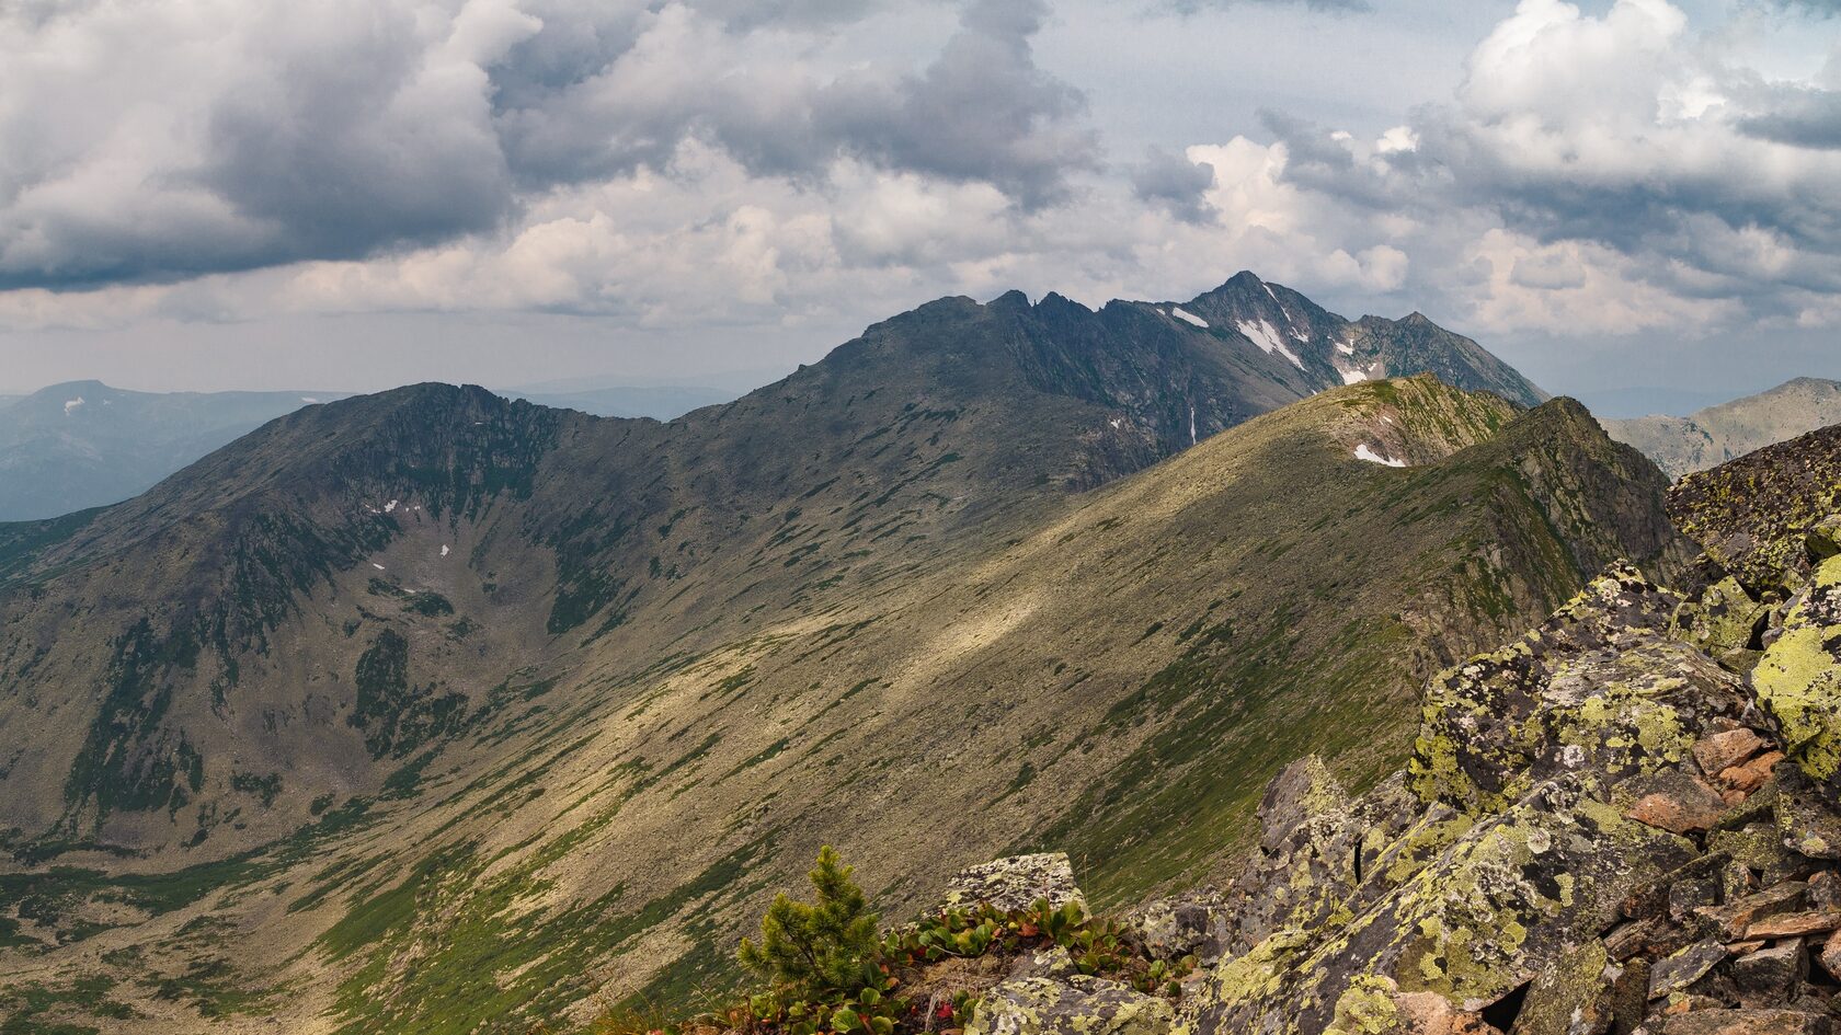
[[[689,22],[676,53],[689,68],[648,53],[571,55],[539,33],[523,44],[543,55],[547,76],[512,63],[503,76],[504,133],[514,173],[530,182],[569,182],[661,166],[685,136],[707,138],[758,175],[817,177],[838,155],[889,169],[954,180],[987,180],[1024,204],[1060,193],[1064,179],[1095,162],[1094,134],[1075,125],[1084,98],[1036,66],[1029,39],[1046,6],[978,0],[959,31],[915,76],[852,72],[828,83],[724,76],[694,57],[722,46]],[[565,37],[571,39],[571,37]],[[576,44],[580,46],[580,44]],[[595,76],[580,68],[602,63]],[[549,85],[549,88],[547,88]],[[687,88],[689,87],[689,88]]]

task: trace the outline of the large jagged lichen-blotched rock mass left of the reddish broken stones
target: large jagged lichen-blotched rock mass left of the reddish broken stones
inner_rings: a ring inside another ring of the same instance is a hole
[[[1653,886],[1666,910],[1675,886],[1661,878],[1701,847],[1662,827],[1703,831],[1729,808],[1688,775],[1690,751],[1736,729],[1749,704],[1732,672],[1670,639],[1675,604],[1616,567],[1537,632],[1434,680],[1403,781],[1344,801],[1314,768],[1281,777],[1248,877],[1230,890],[1230,904],[1257,919],[1237,915],[1235,930],[1263,937],[1210,971],[1184,1004],[1186,1024],[1197,1035],[1373,1024],[1384,1013],[1377,982],[1475,1013],[1576,963],[1638,888]],[[1688,821],[1626,816],[1651,794],[1692,797],[1675,808]],[[1375,796],[1408,818],[1359,832]],[[1307,797],[1318,808],[1287,823],[1283,803]],[[1719,856],[1705,875],[1679,875],[1675,884],[1705,878],[1679,902],[1685,921],[1729,882],[1749,886]],[[1633,948],[1690,941],[1659,923]],[[1598,978],[1613,982],[1607,967]]]

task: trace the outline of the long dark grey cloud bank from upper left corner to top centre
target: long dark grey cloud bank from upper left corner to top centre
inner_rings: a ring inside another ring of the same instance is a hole
[[[795,59],[884,6],[532,0],[431,28],[399,0],[252,4],[217,39],[160,6],[0,7],[0,98],[26,101],[0,109],[0,289],[440,243],[532,192],[670,171],[690,138],[753,175],[821,182],[854,157],[1025,208],[1094,168],[1084,99],[1031,53],[1038,0],[967,4],[908,76]]]

